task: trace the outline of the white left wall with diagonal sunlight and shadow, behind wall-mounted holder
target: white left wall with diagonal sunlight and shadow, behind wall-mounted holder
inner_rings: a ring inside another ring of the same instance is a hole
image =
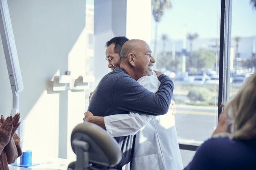
[[[23,149],[66,158],[70,133],[82,122],[85,91],[49,90],[55,75],[85,75],[85,0],[8,0],[23,78],[20,113]],[[0,114],[9,116],[12,94],[0,42]],[[72,153],[69,154],[72,156]]]

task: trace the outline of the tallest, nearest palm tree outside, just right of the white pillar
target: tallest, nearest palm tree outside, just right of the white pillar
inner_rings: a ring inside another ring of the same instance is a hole
[[[157,44],[157,32],[158,32],[158,23],[161,21],[162,16],[164,15],[164,10],[166,8],[171,8],[171,2],[169,0],[152,0],[152,15],[156,22],[155,28],[155,44],[154,44],[154,58],[156,59],[156,44]],[[157,59],[156,59],[157,60]],[[156,64],[155,64],[156,66]]]

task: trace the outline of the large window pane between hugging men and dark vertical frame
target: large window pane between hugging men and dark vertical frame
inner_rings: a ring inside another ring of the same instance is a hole
[[[162,17],[152,17],[151,49],[157,69],[175,83],[179,143],[200,145],[218,117],[220,0],[170,2]],[[186,153],[181,152],[184,166],[193,156]]]

